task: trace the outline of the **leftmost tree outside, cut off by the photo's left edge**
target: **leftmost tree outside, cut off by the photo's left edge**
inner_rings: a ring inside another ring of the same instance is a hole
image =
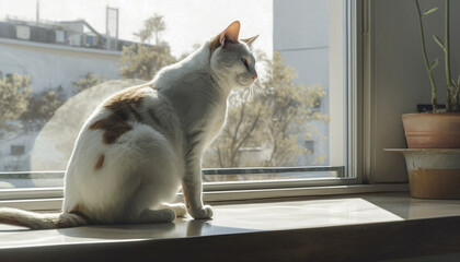
[[[30,76],[12,74],[0,78],[0,128],[11,130],[7,120],[18,120],[26,111],[31,86]],[[1,135],[1,134],[0,134]]]

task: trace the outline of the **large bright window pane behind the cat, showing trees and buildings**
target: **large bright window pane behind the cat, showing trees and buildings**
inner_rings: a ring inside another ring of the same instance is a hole
[[[0,190],[62,187],[79,129],[101,100],[237,19],[241,36],[261,35],[263,92],[231,94],[228,126],[204,154],[205,187],[356,182],[355,2],[207,1],[23,0],[0,10]]]

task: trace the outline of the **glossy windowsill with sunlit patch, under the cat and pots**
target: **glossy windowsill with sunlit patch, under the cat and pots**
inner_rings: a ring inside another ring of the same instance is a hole
[[[1,225],[0,258],[372,261],[460,252],[459,241],[460,201],[372,193],[215,205],[211,221],[174,224],[36,231]]]

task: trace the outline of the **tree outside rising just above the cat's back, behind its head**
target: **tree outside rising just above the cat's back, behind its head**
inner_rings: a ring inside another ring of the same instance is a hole
[[[142,44],[134,44],[124,46],[122,58],[119,60],[119,72],[124,79],[141,79],[151,80],[161,68],[176,62],[171,55],[166,43],[159,45],[159,34],[166,26],[163,16],[156,14],[143,23],[145,27],[135,33]],[[156,46],[145,44],[150,43],[150,38],[154,35]]]

